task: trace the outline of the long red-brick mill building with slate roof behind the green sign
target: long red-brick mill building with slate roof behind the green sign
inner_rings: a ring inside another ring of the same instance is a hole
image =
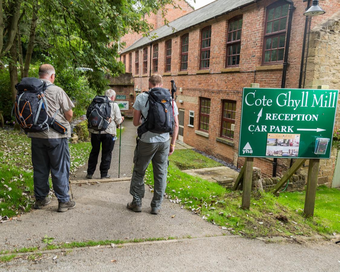
[[[137,40],[121,52],[122,58],[129,59],[126,71],[132,72],[134,92],[148,90],[152,73],[163,75],[166,88],[174,79],[179,138],[242,166],[244,158],[237,155],[242,89],[251,83],[281,87],[288,2],[217,0],[171,22],[175,32],[163,26],[155,30],[157,39]],[[286,88],[299,86],[307,7],[307,1],[293,3]],[[312,29],[339,11],[340,2],[325,0],[320,6],[326,14],[312,18]],[[278,159],[278,175],[288,164],[287,159]],[[256,158],[254,166],[271,176],[271,159]]]

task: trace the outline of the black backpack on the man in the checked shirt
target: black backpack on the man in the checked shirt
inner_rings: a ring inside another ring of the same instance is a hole
[[[150,91],[146,92],[149,95],[148,115],[145,118],[145,122],[140,125],[137,129],[137,134],[140,137],[147,131],[153,133],[170,133],[173,134],[173,108],[172,108],[172,98],[170,91],[165,88],[152,88]]]

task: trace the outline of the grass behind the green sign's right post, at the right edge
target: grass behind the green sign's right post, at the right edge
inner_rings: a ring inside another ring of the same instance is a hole
[[[302,214],[305,203],[304,192],[281,193],[279,202]],[[319,186],[317,190],[313,222],[320,233],[340,233],[340,190]],[[311,224],[311,221],[307,221]]]

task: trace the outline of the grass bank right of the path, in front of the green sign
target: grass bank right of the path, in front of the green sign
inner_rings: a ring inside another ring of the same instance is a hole
[[[295,207],[286,203],[290,199],[290,193],[287,193],[287,198],[283,196],[279,199],[271,193],[252,193],[250,210],[242,210],[240,208],[242,200],[240,191],[226,190],[217,183],[183,173],[177,165],[185,168],[187,157],[182,154],[184,151],[175,151],[174,155],[176,153],[177,156],[169,157],[167,198],[175,202],[178,200],[183,208],[199,214],[205,220],[217,224],[223,229],[227,228],[234,234],[247,237],[310,236],[316,233],[340,232],[339,225],[331,225],[328,223],[329,221],[325,222],[318,218],[305,219],[302,212],[296,212]],[[204,161],[204,167],[215,164],[214,161],[208,162],[210,159],[192,150],[186,150],[185,154],[188,157],[195,157],[196,160]],[[199,168],[201,162],[192,164],[194,164],[193,168]],[[145,181],[153,186],[152,165],[149,165]],[[334,207],[334,214],[339,213],[336,210],[338,209]],[[326,228],[326,225],[329,228]]]

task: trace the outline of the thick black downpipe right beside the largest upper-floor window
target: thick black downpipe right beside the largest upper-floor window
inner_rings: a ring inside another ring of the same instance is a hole
[[[284,54],[284,57],[283,57],[283,70],[282,70],[281,88],[285,88],[285,86],[286,86],[286,75],[287,75],[287,66],[288,66],[290,34],[291,34],[291,29],[292,29],[293,12],[295,10],[293,1],[291,1],[291,0],[284,0],[284,1],[289,3],[289,9],[288,9],[289,14],[288,14],[285,54]],[[277,166],[277,158],[274,158],[273,159],[273,177],[276,176],[276,166]]]

